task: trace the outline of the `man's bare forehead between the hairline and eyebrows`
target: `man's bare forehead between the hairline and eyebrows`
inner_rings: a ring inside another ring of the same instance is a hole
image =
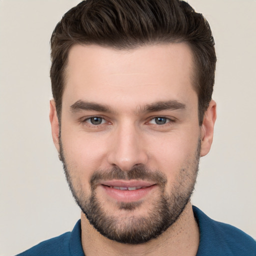
[[[63,104],[82,99],[149,104],[194,97],[192,52],[185,43],[116,50],[74,45],[68,55]],[[197,98],[196,98],[197,99]]]

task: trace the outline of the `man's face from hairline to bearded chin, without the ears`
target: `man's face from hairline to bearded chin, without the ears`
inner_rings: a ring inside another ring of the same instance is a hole
[[[150,240],[189,201],[201,137],[192,66],[184,43],[70,49],[55,144],[77,203],[110,239]]]

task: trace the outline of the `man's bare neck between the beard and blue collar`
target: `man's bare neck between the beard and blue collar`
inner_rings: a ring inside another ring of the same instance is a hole
[[[157,238],[142,244],[123,244],[102,236],[81,214],[81,241],[86,256],[186,255],[195,256],[199,229],[188,202],[179,219]]]

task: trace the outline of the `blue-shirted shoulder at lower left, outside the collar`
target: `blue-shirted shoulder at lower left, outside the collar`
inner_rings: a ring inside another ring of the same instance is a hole
[[[37,245],[31,247],[24,252],[17,254],[17,256],[67,256],[69,253],[69,239],[71,232],[63,233],[59,236],[53,237],[51,239],[42,241]]]

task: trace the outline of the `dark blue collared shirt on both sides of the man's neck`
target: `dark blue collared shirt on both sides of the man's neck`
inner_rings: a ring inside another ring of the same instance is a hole
[[[196,256],[256,256],[256,242],[240,229],[214,221],[193,206],[200,230]],[[84,256],[81,245],[81,221],[71,232],[40,242],[17,256]]]

